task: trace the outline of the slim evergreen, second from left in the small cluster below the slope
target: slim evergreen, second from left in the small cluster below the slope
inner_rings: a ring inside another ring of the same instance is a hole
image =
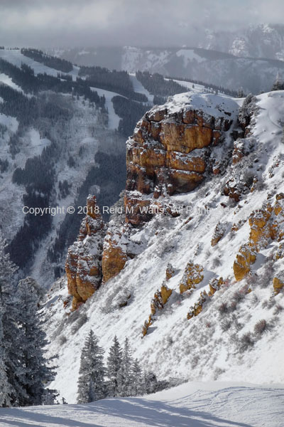
[[[122,352],[119,340],[114,337],[114,344],[109,349],[107,358],[107,376],[109,377],[109,396],[119,396],[119,369],[121,368]]]

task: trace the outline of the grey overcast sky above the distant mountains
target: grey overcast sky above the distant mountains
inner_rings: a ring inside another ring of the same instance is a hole
[[[283,0],[0,0],[0,45],[197,46],[283,16]]]

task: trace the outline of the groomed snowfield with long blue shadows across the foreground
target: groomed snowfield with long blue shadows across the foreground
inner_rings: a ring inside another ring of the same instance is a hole
[[[147,397],[0,408],[1,427],[283,427],[284,386],[186,383]]]

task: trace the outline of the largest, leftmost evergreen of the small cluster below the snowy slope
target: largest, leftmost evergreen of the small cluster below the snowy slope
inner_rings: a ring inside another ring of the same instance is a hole
[[[99,347],[96,335],[90,330],[81,354],[78,379],[78,404],[87,404],[92,401],[104,399],[106,396],[103,358],[104,350]]]

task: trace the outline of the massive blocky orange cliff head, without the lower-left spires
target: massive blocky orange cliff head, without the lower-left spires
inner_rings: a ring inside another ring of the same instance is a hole
[[[153,217],[150,206],[159,208],[153,198],[191,191],[206,172],[219,173],[212,149],[229,130],[231,112],[214,116],[186,101],[147,112],[126,144],[126,222],[133,226]]]

